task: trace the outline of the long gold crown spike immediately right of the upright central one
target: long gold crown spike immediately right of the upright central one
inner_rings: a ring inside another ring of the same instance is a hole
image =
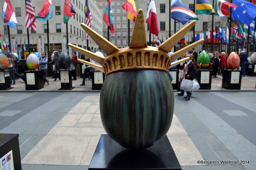
[[[168,53],[176,43],[184,37],[184,35],[196,24],[196,21],[193,20],[188,25],[180,29],[180,31],[176,32],[172,37],[168,38],[166,41],[164,41],[161,45],[158,46],[158,49],[165,51]]]

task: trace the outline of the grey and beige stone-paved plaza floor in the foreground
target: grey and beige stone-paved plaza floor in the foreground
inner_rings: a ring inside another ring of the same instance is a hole
[[[255,92],[193,92],[190,101],[176,93],[167,136],[183,170],[255,170]],[[0,133],[20,135],[23,170],[86,170],[106,134],[99,99],[99,92],[2,92]]]

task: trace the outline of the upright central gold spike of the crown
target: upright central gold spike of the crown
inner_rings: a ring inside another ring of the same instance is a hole
[[[147,47],[147,39],[146,39],[143,11],[142,9],[139,9],[136,20],[135,20],[134,28],[132,31],[130,48],[146,48],[146,47]]]

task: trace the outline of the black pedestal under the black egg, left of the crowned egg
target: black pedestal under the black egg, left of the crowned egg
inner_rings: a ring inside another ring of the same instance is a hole
[[[72,90],[72,72],[71,70],[60,71],[60,88],[58,90]]]

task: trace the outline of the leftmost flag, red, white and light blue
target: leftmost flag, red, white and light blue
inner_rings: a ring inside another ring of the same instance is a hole
[[[4,1],[2,20],[11,28],[18,25],[10,0]]]

